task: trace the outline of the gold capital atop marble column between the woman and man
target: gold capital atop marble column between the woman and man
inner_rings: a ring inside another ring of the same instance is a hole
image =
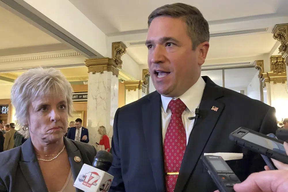
[[[86,59],[85,65],[88,67],[88,73],[104,73],[104,71],[110,71],[118,77],[121,66],[117,65],[114,59],[105,58],[94,58]]]

